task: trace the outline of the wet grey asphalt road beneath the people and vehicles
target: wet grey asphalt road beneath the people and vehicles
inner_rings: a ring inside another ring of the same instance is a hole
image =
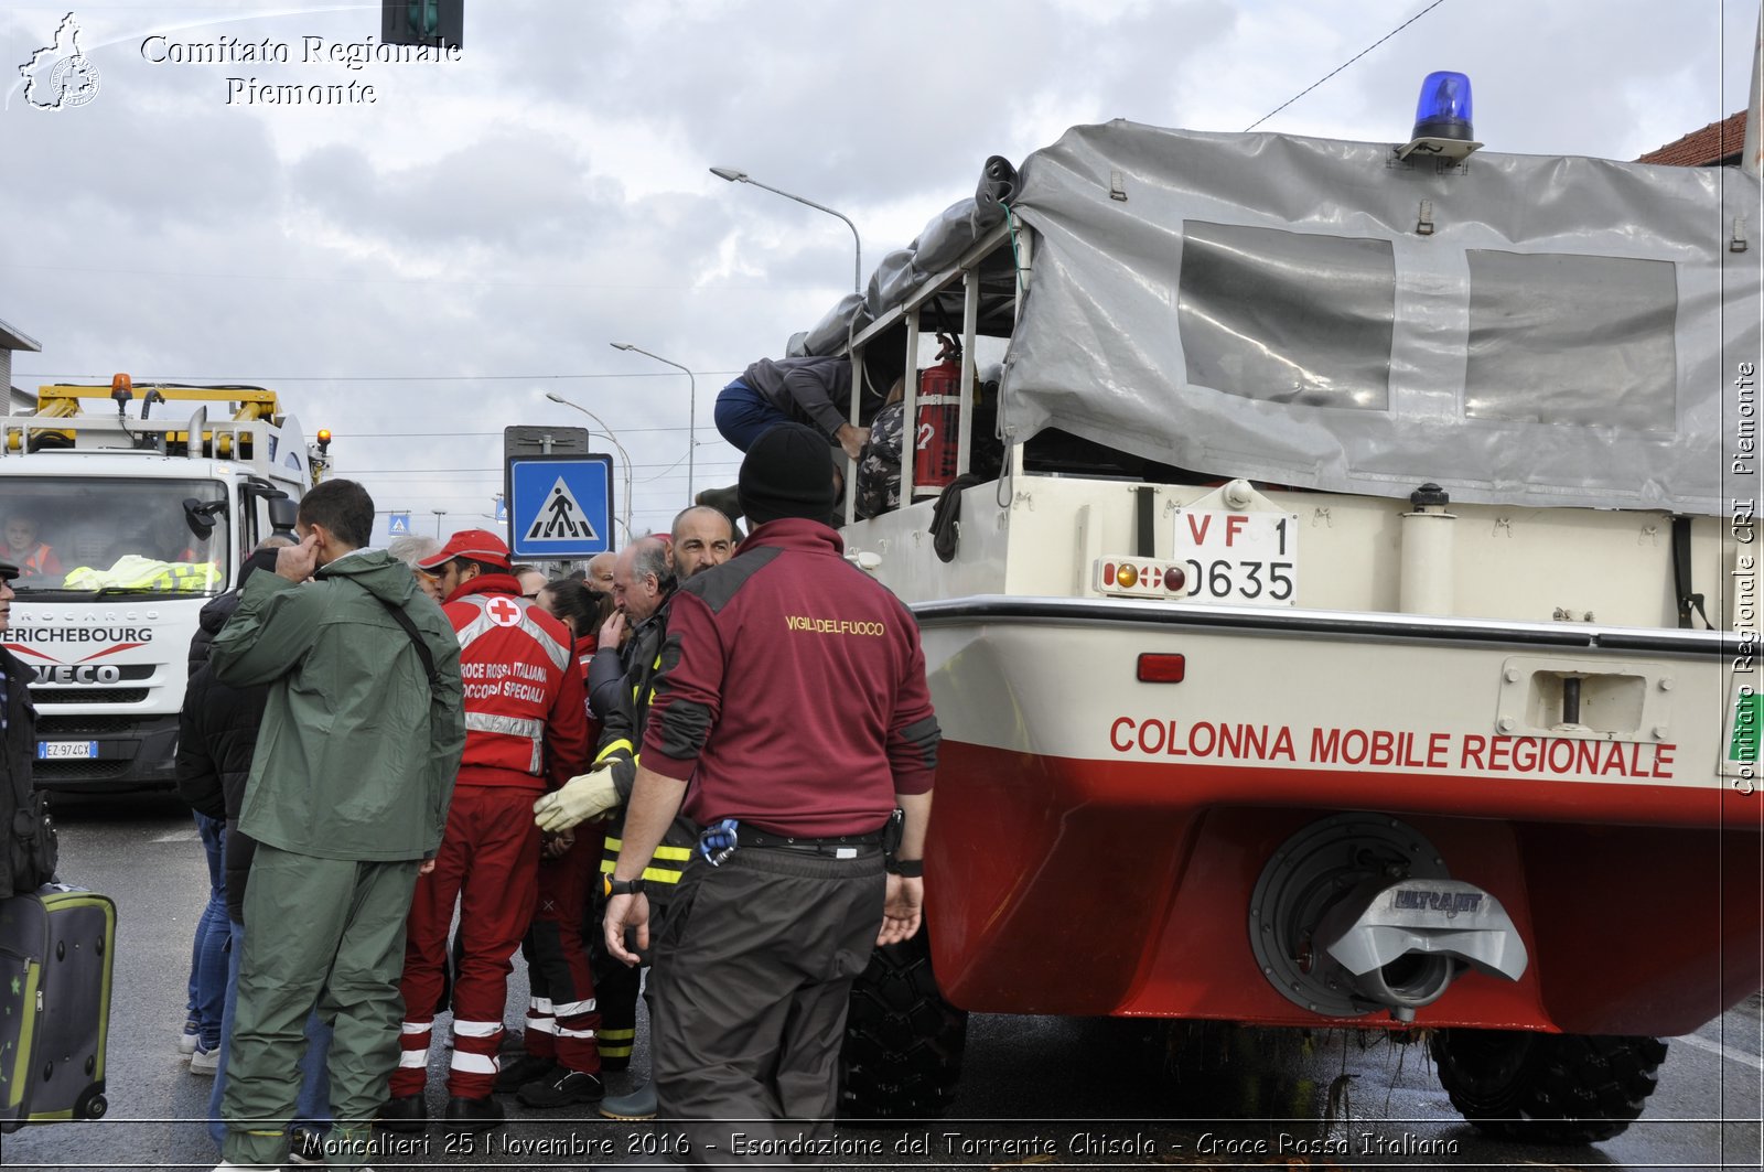
[[[108,1056],[109,1114],[0,1138],[16,1168],[212,1168],[201,1119],[210,1082],[175,1048],[191,934],[206,897],[201,844],[168,798],[74,798],[56,805],[62,877],[118,905]],[[1050,941],[1055,946],[1057,941]],[[510,1004],[524,1004],[517,981]],[[510,1020],[515,1013],[510,1013]],[[1118,1020],[974,1017],[949,1119],[841,1126],[824,1167],[1545,1167],[1759,1168],[1764,1020],[1759,999],[1674,1040],[1648,1114],[1625,1135],[1581,1147],[1485,1138],[1459,1119],[1425,1047],[1383,1034],[1293,1031],[1237,1040],[1235,1059],[1171,1084],[1147,1061],[1147,1029]],[[439,1114],[445,1054],[430,1078]],[[639,1056],[647,1068],[647,1056]],[[610,1093],[628,1087],[623,1075]],[[388,1167],[584,1168],[660,1163],[649,1124],[533,1112],[466,1147],[439,1130],[372,1158]]]

